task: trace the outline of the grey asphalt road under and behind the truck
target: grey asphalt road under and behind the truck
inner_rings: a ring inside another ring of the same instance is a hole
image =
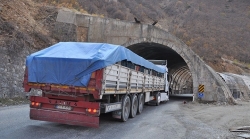
[[[101,115],[100,127],[89,128],[29,119],[29,106],[0,108],[1,139],[179,139],[206,138],[204,132],[190,129],[192,118],[180,111],[182,101],[169,101],[160,106],[145,105],[142,114],[127,122]],[[190,122],[190,123],[189,123]],[[203,128],[207,125],[200,125]],[[191,128],[192,128],[191,127]],[[213,130],[213,129],[210,129]],[[209,132],[207,133],[209,136]],[[211,136],[210,136],[211,137]],[[217,136],[212,136],[216,137]]]

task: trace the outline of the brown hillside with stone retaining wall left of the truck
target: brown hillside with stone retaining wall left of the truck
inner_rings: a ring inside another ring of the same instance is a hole
[[[56,15],[55,7],[32,0],[1,1],[0,98],[25,96],[22,88],[25,58],[58,41],[52,33]]]

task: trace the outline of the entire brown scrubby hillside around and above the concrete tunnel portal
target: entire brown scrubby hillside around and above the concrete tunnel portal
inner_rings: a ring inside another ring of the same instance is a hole
[[[218,72],[250,73],[248,0],[1,0],[0,98],[22,92],[25,57],[74,27],[56,23],[58,8],[152,24],[179,37]],[[74,37],[73,37],[74,38]]]

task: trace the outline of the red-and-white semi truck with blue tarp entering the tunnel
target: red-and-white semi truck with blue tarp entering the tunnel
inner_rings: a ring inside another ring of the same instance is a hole
[[[112,113],[125,122],[169,100],[166,64],[119,45],[57,43],[26,58],[24,90],[42,92],[30,96],[30,119],[99,127]]]

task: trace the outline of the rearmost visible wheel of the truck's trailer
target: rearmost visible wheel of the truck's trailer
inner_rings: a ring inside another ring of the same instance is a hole
[[[121,115],[121,120],[123,122],[126,122],[128,120],[129,117],[129,113],[130,113],[130,106],[131,102],[129,99],[129,96],[125,95],[122,98],[122,115]]]

